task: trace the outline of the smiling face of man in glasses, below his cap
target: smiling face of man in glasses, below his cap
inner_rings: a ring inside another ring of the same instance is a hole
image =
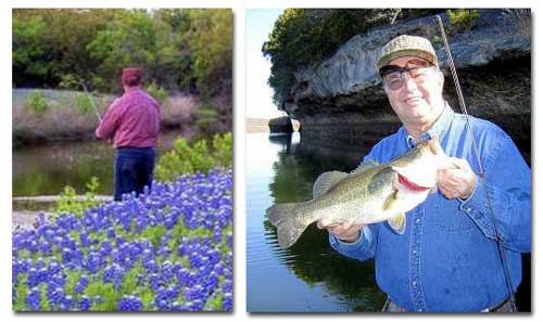
[[[416,56],[395,59],[389,66],[411,69],[384,76],[384,91],[402,123],[413,127],[433,124],[443,110],[443,74]]]

